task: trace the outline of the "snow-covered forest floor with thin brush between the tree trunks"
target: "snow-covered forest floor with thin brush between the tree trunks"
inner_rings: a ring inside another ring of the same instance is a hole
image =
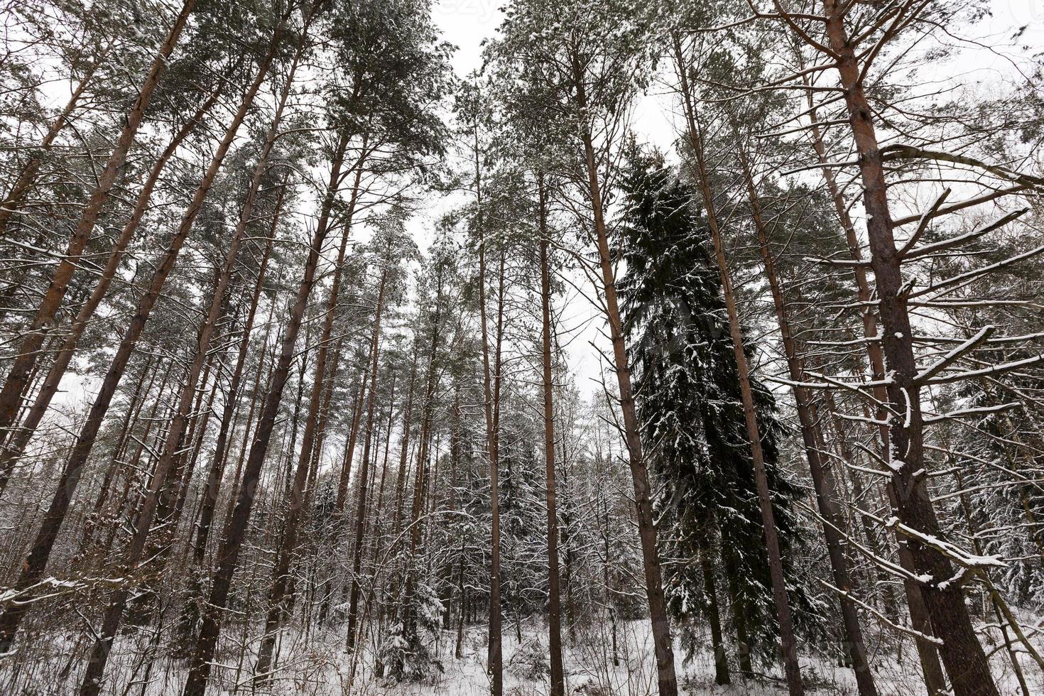
[[[1040,616],[1023,614],[1023,626],[1033,635],[1039,650],[1044,650],[1044,625]],[[994,629],[995,630],[995,629]],[[352,675],[352,661],[345,651],[343,627],[283,633],[280,659],[274,680],[264,688],[252,688],[251,664],[256,650],[254,641],[237,647],[231,640],[222,643],[208,694],[221,696],[483,696],[489,693],[484,672],[484,628],[474,626],[465,631],[461,657],[454,657],[456,631],[447,628],[435,640],[431,676],[422,682],[387,683],[372,672],[375,663],[372,646],[361,648],[357,655],[357,672]],[[992,632],[992,631],[991,631]],[[253,633],[253,631],[252,631]],[[519,637],[521,635],[521,642]],[[168,696],[177,694],[185,674],[185,661],[169,657],[158,649],[151,631],[124,634],[118,641],[117,656],[110,663],[110,679],[105,694],[120,696]],[[592,622],[575,634],[566,637],[565,662],[567,693],[576,696],[648,696],[656,691],[656,670],[646,621],[620,622],[617,632],[617,664],[613,661],[612,629]],[[709,646],[710,637],[695,634],[693,644]],[[997,633],[999,638],[999,632]],[[521,629],[514,622],[504,623],[504,693],[506,696],[545,696],[546,625],[541,621],[523,621]],[[688,642],[688,638],[686,639]],[[682,693],[716,696],[775,696],[784,694],[780,670],[740,678],[733,674],[733,683],[714,683],[714,666],[709,647],[686,656],[679,638],[675,654]],[[245,645],[245,650],[242,649]],[[84,637],[67,641],[51,641],[32,647],[34,659],[22,664],[13,675],[7,666],[0,666],[0,691],[19,696],[64,696],[75,693],[78,670],[69,669],[70,651],[86,647]],[[896,649],[885,646],[881,637],[873,635],[870,653],[881,696],[918,696],[924,693],[919,676],[920,667],[912,645],[907,641]],[[987,646],[992,651],[991,663],[1003,696],[1021,694],[1012,671],[1007,653],[1000,641]],[[802,646],[802,673],[809,693],[827,695],[855,694],[851,670],[836,664],[835,658],[813,652]],[[1030,694],[1044,694],[1044,674],[1025,653],[1021,658]],[[735,664],[731,667],[735,668]],[[238,676],[237,676],[238,675]],[[14,677],[14,678],[13,678]],[[26,687],[26,685],[32,685]],[[46,685],[46,686],[45,686]]]

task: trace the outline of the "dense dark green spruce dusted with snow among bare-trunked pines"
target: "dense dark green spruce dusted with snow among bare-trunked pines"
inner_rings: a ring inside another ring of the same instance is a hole
[[[620,296],[643,443],[660,491],[664,584],[681,633],[690,633],[690,652],[697,646],[687,627],[696,617],[710,624],[715,680],[728,683],[719,595],[730,598],[741,671],[752,668],[752,646],[767,649],[776,633],[736,360],[692,191],[657,152],[632,145],[627,160]],[[800,493],[778,466],[784,433],[775,399],[757,380],[754,388],[781,544],[791,549],[801,543],[790,512]]]

